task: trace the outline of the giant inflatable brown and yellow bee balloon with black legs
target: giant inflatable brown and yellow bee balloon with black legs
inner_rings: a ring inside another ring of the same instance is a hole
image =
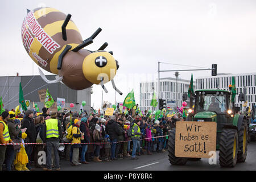
[[[101,28],[89,38],[82,40],[71,15],[65,15],[51,7],[27,10],[21,29],[24,48],[39,67],[55,73],[56,80],[48,80],[39,69],[41,77],[48,83],[62,81],[71,89],[82,90],[93,84],[104,86],[112,81],[113,88],[122,94],[114,84],[119,68],[113,52],[104,51],[104,43],[97,51],[83,49],[93,43]]]

